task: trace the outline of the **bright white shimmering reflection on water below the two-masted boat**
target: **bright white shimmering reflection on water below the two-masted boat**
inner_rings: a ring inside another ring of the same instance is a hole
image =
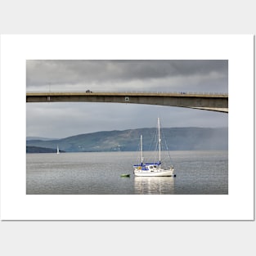
[[[134,177],[135,194],[174,194],[174,177]]]

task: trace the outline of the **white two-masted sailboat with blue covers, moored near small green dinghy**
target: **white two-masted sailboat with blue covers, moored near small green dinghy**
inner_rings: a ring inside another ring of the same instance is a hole
[[[173,165],[168,166],[168,168],[163,168],[161,166],[161,138],[160,138],[160,121],[158,118],[158,155],[159,160],[154,161],[151,163],[144,163],[144,157],[143,157],[143,146],[142,146],[142,135],[141,135],[141,163],[133,165],[133,173],[135,176],[142,176],[142,177],[166,177],[166,176],[176,176],[174,174],[174,168]]]

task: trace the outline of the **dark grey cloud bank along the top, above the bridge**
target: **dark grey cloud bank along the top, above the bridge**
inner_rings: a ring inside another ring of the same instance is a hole
[[[227,83],[227,61],[27,61],[27,88],[93,85],[213,75]]]

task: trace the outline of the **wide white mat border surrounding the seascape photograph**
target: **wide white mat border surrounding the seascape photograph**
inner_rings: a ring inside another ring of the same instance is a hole
[[[229,195],[25,195],[27,59],[228,60]],[[2,220],[252,220],[253,137],[253,35],[1,37]]]

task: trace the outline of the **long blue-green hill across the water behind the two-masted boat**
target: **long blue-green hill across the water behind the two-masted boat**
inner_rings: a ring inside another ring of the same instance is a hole
[[[66,152],[135,151],[140,135],[143,135],[144,150],[154,150],[152,137],[155,128],[140,128],[124,131],[93,132],[58,140],[29,140],[27,146],[38,146]],[[169,150],[227,150],[227,128],[163,128],[163,141]],[[151,145],[151,146],[150,146]]]

